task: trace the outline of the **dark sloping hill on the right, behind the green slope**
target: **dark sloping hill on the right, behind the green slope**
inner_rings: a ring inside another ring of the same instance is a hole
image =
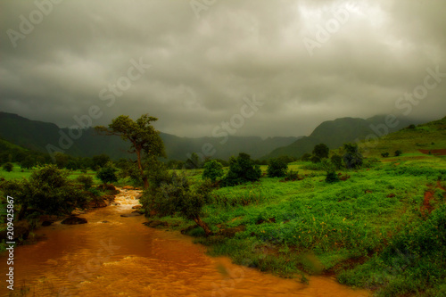
[[[378,115],[367,120],[359,118],[342,118],[327,120],[320,124],[310,136],[304,136],[293,144],[278,147],[261,159],[277,158],[288,155],[300,158],[304,153],[311,153],[316,144],[326,144],[330,149],[335,149],[348,142],[362,141],[367,136],[384,136],[406,128],[410,124],[419,124],[420,121],[407,118],[386,120],[385,115]],[[387,123],[392,123],[387,125]],[[394,125],[398,123],[398,125]],[[391,127],[390,127],[391,126]]]

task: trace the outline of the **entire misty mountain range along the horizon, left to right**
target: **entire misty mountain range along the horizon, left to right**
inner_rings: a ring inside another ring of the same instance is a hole
[[[224,160],[242,152],[249,153],[253,159],[268,160],[282,155],[299,158],[303,153],[311,153],[316,144],[323,143],[335,149],[347,142],[364,140],[369,135],[382,136],[384,132],[391,133],[410,124],[420,123],[407,118],[396,121],[398,125],[392,125],[390,128],[385,125],[384,115],[367,120],[359,118],[328,120],[315,128],[310,136],[302,137],[261,139],[257,136],[229,136],[224,142],[225,138],[179,137],[161,132],[161,138],[170,160],[186,161],[192,153],[209,155],[209,152],[212,158]],[[17,114],[0,111],[0,137],[12,144],[43,153],[48,153],[47,147],[50,144],[52,147],[62,148],[64,153],[79,157],[92,157],[101,153],[110,155],[112,159],[131,156],[127,152],[129,144],[119,136],[98,136],[94,128],[81,131],[81,136],[72,140],[76,135],[68,128],[59,128],[53,123],[29,120]]]

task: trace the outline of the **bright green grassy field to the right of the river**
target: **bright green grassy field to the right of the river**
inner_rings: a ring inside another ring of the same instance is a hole
[[[212,255],[285,277],[335,274],[346,285],[379,296],[446,293],[446,164],[408,153],[374,168],[338,171],[344,181],[325,182],[325,171],[294,162],[301,180],[219,188],[204,219],[213,231],[235,236],[190,235]],[[265,171],[266,167],[262,167]],[[201,172],[194,171],[193,178]],[[440,187],[439,187],[440,186]],[[425,193],[433,197],[425,202]],[[179,218],[162,218],[187,222]],[[191,224],[189,222],[189,224]]]

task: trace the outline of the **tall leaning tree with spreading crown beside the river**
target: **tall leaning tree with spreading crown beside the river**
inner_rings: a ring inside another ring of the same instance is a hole
[[[144,187],[149,187],[148,177],[145,175],[144,157],[164,157],[164,144],[160,136],[160,131],[153,128],[151,122],[158,120],[143,114],[141,118],[132,120],[128,116],[120,115],[111,120],[108,128],[103,126],[95,127],[101,135],[115,135],[131,143],[129,153],[136,153],[136,162],[143,179]]]

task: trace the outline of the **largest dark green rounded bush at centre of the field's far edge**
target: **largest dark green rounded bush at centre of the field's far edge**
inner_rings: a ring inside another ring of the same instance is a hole
[[[259,165],[255,165],[247,153],[239,153],[229,161],[229,171],[223,178],[223,186],[235,186],[246,182],[258,181],[261,177]]]

